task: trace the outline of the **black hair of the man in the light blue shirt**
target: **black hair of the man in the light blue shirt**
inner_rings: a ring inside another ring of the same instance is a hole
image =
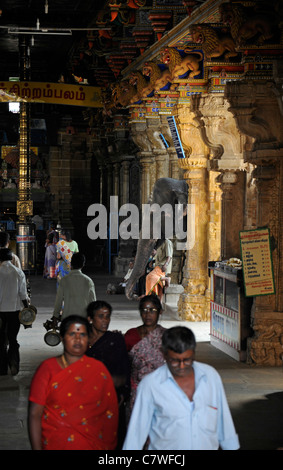
[[[195,335],[186,326],[174,326],[168,328],[162,335],[162,351],[167,353],[168,349],[177,354],[190,350],[195,350]]]

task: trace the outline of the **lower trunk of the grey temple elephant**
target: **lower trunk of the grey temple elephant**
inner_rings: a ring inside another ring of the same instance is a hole
[[[125,294],[128,299],[133,297],[133,290],[137,281],[145,274],[146,265],[152,250],[155,248],[156,241],[155,239],[140,240],[138,243],[134,268],[125,288]]]

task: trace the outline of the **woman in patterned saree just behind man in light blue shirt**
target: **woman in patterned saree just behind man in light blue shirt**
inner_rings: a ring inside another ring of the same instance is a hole
[[[142,297],[139,310],[143,324],[125,333],[125,343],[131,363],[129,411],[134,405],[141,379],[165,362],[161,351],[161,339],[165,328],[158,324],[162,312],[159,298],[154,294]]]

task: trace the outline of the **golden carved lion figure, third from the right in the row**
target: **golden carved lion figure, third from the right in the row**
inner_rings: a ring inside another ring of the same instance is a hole
[[[192,54],[182,57],[180,52],[174,47],[166,47],[161,51],[161,60],[163,64],[169,67],[172,80],[179,78],[189,70],[189,77],[193,78],[200,73],[200,62],[203,59],[201,52],[193,52]]]

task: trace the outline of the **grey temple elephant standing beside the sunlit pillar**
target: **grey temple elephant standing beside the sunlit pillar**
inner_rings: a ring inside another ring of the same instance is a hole
[[[148,210],[145,211],[143,208],[142,229],[137,245],[135,264],[125,289],[128,299],[132,298],[135,284],[145,272],[152,250],[164,243],[165,238],[170,238],[168,237],[168,227],[171,226],[172,235],[176,235],[176,227],[180,227],[179,224],[184,222],[187,203],[188,185],[184,180],[160,178],[155,182],[147,203]],[[164,210],[160,211],[159,209],[162,207]],[[177,221],[176,217],[181,220]],[[160,231],[159,227],[156,227],[158,224],[160,224]],[[147,231],[146,236],[145,231]]]

